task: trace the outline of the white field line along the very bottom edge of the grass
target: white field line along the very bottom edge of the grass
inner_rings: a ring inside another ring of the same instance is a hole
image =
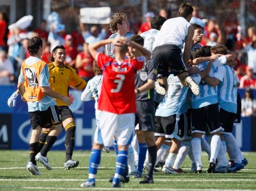
[[[0,187],[1,188],[1,187]],[[33,189],[33,190],[37,190],[37,189],[43,189],[43,190],[85,190],[85,188],[58,188],[58,187],[5,187],[5,188],[13,188],[13,189]],[[88,188],[90,190],[113,190],[113,188]],[[159,190],[159,188],[118,188],[117,190]],[[240,190],[240,189],[179,189],[179,188],[161,188],[161,190],[170,190],[170,191],[175,191],[175,190],[179,190],[179,191],[183,191],[183,190],[191,190],[191,191],[197,191],[197,190],[202,190],[202,191],[217,191],[217,190],[221,190],[221,191],[249,191],[249,190]]]

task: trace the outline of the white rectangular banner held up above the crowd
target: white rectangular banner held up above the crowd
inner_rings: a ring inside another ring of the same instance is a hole
[[[88,24],[109,24],[110,7],[87,7],[80,9],[81,23]]]

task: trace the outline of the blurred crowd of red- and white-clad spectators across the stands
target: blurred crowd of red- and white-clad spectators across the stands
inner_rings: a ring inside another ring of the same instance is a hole
[[[199,17],[199,8],[193,7],[193,17],[191,23],[200,24],[204,27],[203,45],[225,44],[230,53],[236,57],[237,66],[235,68],[240,78],[240,88],[256,89],[256,26],[247,28],[247,34],[243,34],[236,19],[224,22],[222,26],[216,22],[212,16],[210,19]],[[165,18],[170,18],[170,11],[160,9],[158,13],[152,11],[144,15],[142,20],[135,20],[133,15],[129,15],[130,29],[134,34],[141,34],[150,30],[151,18],[159,14]],[[52,26],[48,20],[42,20],[40,27],[34,30],[21,30],[18,27],[8,26],[9,20],[4,13],[0,13],[0,85],[10,84],[18,80],[20,65],[29,54],[27,51],[28,39],[38,36],[44,40],[44,51],[42,60],[51,63],[51,50],[56,45],[64,45],[67,58],[65,63],[77,70],[79,76],[88,81],[94,76],[92,64],[93,57],[88,51],[88,44],[107,39],[112,34],[109,24],[92,25],[77,23],[77,30],[66,32],[68,26],[57,24]],[[105,49],[101,48],[100,52]],[[251,94],[252,95],[252,94]],[[247,98],[245,98],[246,102]],[[244,103],[245,103],[244,102]],[[255,113],[255,101],[250,104],[252,113]],[[246,111],[246,109],[245,109]],[[249,115],[244,112],[244,115]]]

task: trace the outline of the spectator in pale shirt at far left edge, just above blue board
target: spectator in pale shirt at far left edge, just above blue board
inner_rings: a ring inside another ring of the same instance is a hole
[[[0,84],[10,84],[14,80],[13,64],[6,57],[5,51],[0,51]]]

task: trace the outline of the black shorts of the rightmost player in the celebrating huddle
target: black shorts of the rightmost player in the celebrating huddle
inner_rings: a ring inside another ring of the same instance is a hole
[[[221,127],[224,128],[223,134],[232,134],[236,115],[222,108],[220,109]]]

